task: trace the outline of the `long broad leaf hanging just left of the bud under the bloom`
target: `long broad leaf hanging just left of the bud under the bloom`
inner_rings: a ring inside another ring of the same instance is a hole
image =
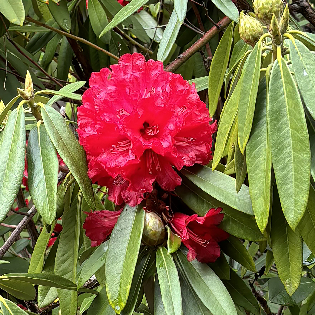
[[[138,258],[145,212],[140,205],[125,206],[109,240],[105,273],[112,308],[120,314],[126,305]]]

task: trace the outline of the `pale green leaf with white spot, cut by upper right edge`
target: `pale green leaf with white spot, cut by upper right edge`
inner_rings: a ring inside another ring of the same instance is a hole
[[[290,57],[296,82],[305,105],[312,117],[315,117],[315,58],[298,40],[290,41]]]

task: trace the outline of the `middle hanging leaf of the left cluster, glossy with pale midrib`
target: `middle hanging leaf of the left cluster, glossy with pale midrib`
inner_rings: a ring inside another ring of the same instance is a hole
[[[58,158],[45,127],[37,123],[28,136],[27,184],[37,211],[50,225],[57,211]]]

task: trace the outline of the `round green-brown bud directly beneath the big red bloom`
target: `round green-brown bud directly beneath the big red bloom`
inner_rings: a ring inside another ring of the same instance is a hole
[[[165,226],[162,219],[155,212],[146,212],[142,243],[149,246],[162,244],[165,238]]]

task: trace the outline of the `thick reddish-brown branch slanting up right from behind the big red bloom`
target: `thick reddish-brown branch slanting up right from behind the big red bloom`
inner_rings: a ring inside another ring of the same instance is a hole
[[[180,54],[177,59],[166,66],[165,71],[175,72],[186,60],[188,60],[193,54],[200,50],[206,43],[209,42],[212,37],[214,37],[221,29],[228,26],[230,23],[231,20],[225,16],[218,22],[217,26],[219,26],[219,28],[216,26],[211,27],[209,31],[203,35],[203,37],[198,39],[196,43],[194,43],[191,47]]]

